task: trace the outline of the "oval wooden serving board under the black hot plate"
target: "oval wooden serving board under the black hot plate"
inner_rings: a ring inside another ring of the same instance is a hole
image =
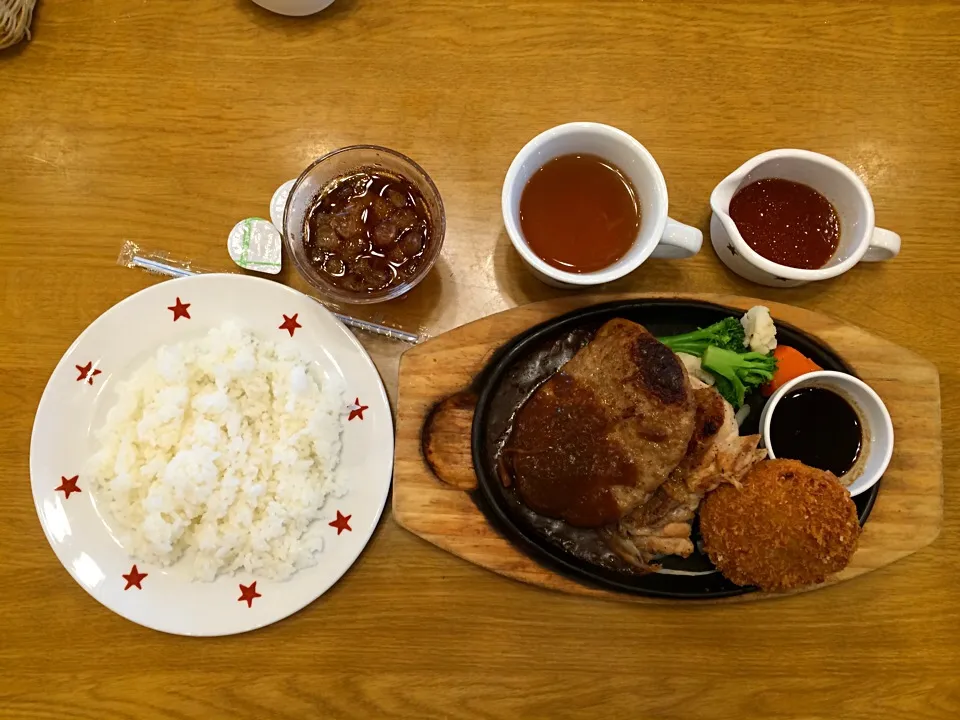
[[[893,460],[853,560],[828,583],[889,565],[936,539],[943,516],[936,367],[910,350],[826,315],[728,295],[581,295],[548,300],[491,315],[408,350],[400,361],[397,406],[393,481],[397,522],[458,557],[515,580],[630,602],[670,602],[583,584],[542,566],[494,529],[465,492],[477,480],[470,452],[475,397],[463,391],[494,351],[524,330],[580,307],[654,298],[700,300],[742,310],[766,305],[775,320],[794,325],[833,348],[883,398],[893,418]],[[425,427],[431,438],[429,463],[423,450]],[[768,596],[756,592],[710,602]]]

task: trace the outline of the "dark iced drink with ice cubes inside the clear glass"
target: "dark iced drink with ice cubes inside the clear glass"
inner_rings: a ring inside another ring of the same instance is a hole
[[[331,285],[361,294],[411,280],[433,232],[423,195],[409,180],[363,168],[324,188],[304,225],[309,263]]]

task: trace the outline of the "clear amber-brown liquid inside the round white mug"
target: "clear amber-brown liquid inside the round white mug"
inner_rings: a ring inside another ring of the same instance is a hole
[[[527,181],[520,229],[537,256],[566,272],[602,270],[640,229],[640,204],[623,172],[596,155],[562,155]]]

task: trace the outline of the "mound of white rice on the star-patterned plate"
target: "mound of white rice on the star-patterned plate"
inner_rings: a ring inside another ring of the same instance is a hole
[[[135,560],[208,581],[316,564],[311,524],[345,491],[346,404],[293,341],[225,324],[161,347],[117,392],[88,472]]]

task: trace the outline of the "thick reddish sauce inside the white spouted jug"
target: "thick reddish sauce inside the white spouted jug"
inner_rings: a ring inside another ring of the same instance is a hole
[[[840,243],[837,211],[812,187],[767,178],[737,191],[730,217],[753,250],[780,265],[816,270]]]

